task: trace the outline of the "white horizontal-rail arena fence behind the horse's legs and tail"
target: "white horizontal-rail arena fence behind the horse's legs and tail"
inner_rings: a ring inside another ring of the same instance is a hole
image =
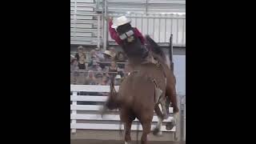
[[[118,86],[115,86],[118,90]],[[102,102],[106,102],[106,96],[90,96],[81,95],[80,92],[97,92],[97,93],[109,93],[110,86],[90,86],[90,85],[70,85],[70,129],[72,133],[76,130],[119,130],[120,118],[117,110],[112,110],[105,116],[99,114],[99,110],[102,107]],[[78,104],[78,102],[87,102],[84,104]],[[94,103],[91,103],[94,102]],[[173,113],[173,109],[170,107],[170,113]],[[79,114],[79,113],[80,114]],[[82,114],[81,114],[82,112]],[[170,122],[172,117],[166,119],[163,122],[162,131],[176,132],[177,128],[174,127],[172,130],[166,130],[166,122]],[[82,122],[78,122],[82,120]],[[138,122],[136,118],[135,121]],[[158,117],[154,115],[152,120],[152,129],[156,126]],[[178,125],[180,126],[180,125]],[[122,126],[122,130],[124,127]],[[131,130],[137,130],[137,124],[133,124]],[[140,125],[139,130],[142,130]]]

